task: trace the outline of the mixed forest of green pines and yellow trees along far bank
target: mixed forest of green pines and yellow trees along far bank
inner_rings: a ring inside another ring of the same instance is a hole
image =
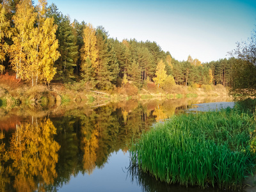
[[[46,0],[38,5],[31,0],[2,0],[0,12],[1,73],[15,74],[31,86],[83,83],[90,89],[112,90],[125,84],[140,89],[154,82],[168,90],[174,84],[222,84],[251,95],[248,90],[255,86],[255,65],[244,58],[243,44],[237,44],[228,59],[202,63],[189,55],[178,61],[156,42],[120,42],[109,38],[103,26],[72,21]]]

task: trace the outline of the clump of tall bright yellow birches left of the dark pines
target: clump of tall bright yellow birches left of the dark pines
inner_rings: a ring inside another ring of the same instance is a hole
[[[60,53],[56,40],[57,26],[53,18],[45,18],[45,0],[40,0],[35,12],[30,0],[20,1],[13,17],[15,34],[10,49],[10,62],[17,78],[49,83],[56,73],[54,61]],[[36,27],[34,27],[36,25]]]

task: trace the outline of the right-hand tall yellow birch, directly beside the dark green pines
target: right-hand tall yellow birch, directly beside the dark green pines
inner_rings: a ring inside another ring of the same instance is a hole
[[[53,18],[45,18],[46,0],[39,0],[36,10],[38,18],[36,28],[32,30],[31,51],[28,54],[29,77],[32,80],[32,86],[39,81],[50,83],[56,74],[54,61],[60,57],[58,52],[58,40],[56,40],[57,25]]]

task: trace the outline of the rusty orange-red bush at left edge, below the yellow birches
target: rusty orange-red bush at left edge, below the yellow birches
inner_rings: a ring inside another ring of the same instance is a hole
[[[19,88],[22,83],[20,79],[16,79],[15,76],[11,76],[6,72],[6,74],[0,75],[0,84],[3,84],[4,88],[15,89]]]

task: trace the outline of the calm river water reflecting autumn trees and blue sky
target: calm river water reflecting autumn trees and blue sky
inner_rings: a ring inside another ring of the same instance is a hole
[[[227,101],[128,100],[37,112],[0,108],[0,191],[203,191],[129,168],[129,143],[193,104]]]

